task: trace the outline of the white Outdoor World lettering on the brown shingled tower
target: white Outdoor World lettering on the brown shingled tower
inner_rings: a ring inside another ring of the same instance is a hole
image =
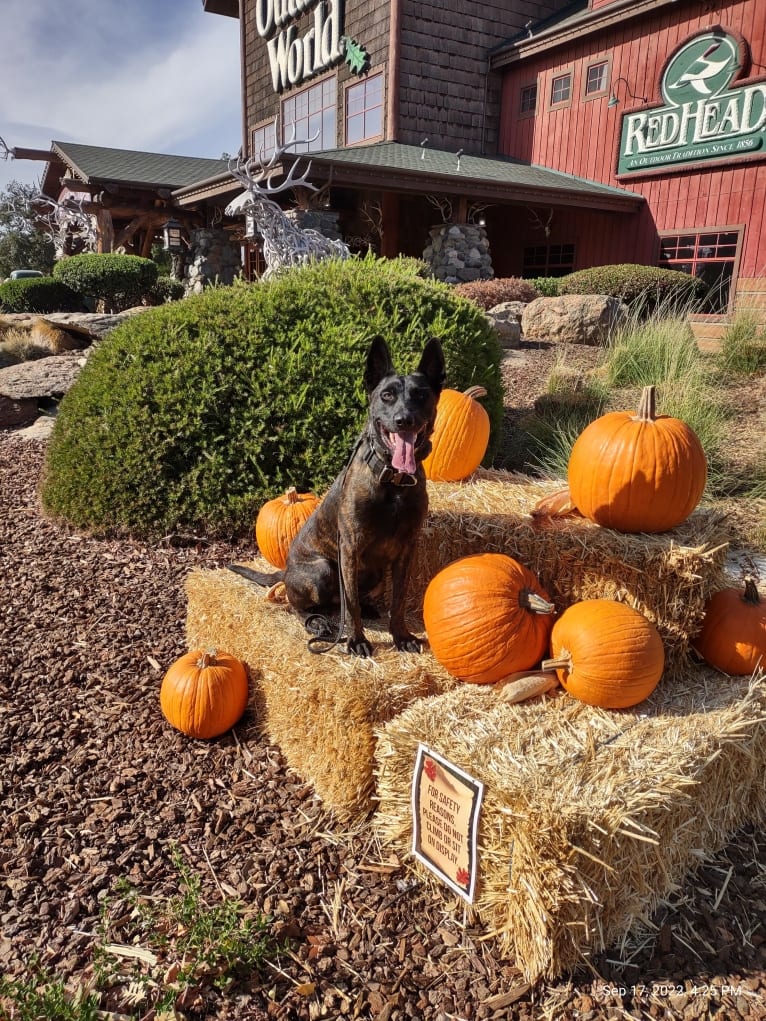
[[[314,12],[298,32],[296,19]],[[267,41],[275,92],[306,82],[343,59],[343,0],[257,0],[255,28]]]

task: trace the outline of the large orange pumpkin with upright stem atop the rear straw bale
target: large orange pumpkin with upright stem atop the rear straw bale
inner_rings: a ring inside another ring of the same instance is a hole
[[[610,411],[580,433],[567,475],[575,506],[591,521],[620,532],[665,532],[700,502],[707,460],[692,429],[657,415],[648,386],[635,415]]]

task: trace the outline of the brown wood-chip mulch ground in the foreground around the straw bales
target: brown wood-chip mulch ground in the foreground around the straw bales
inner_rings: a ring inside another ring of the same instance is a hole
[[[550,357],[507,360],[517,409]],[[74,988],[98,965],[107,1017],[159,1019],[157,986],[137,975],[174,980],[182,926],[154,964],[137,957],[126,889],[160,905],[181,862],[210,909],[237,897],[289,937],[225,992],[198,973],[177,1005],[190,1018],[766,1018],[766,833],[736,834],[596,973],[529,988],[406,863],[364,829],[339,832],[251,711],[213,742],[162,720],[159,682],[186,650],[184,579],[247,544],[78,534],[39,513],[43,459],[44,443],[0,433],[0,975],[37,958]]]

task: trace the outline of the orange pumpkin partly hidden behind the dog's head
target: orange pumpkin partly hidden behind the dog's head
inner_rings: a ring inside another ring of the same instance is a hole
[[[423,461],[427,479],[460,482],[481,464],[489,443],[489,416],[478,403],[485,397],[482,386],[442,390],[431,433],[431,452]]]

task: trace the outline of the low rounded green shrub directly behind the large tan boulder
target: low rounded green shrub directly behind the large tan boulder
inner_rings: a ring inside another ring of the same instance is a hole
[[[647,314],[686,308],[705,291],[698,277],[633,262],[577,270],[559,281],[560,294],[610,294],[626,304],[638,302]]]

